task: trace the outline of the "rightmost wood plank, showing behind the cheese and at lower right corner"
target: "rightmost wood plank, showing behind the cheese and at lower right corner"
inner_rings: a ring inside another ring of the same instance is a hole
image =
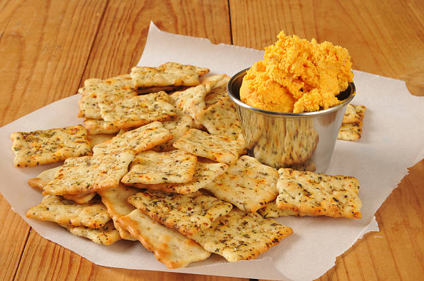
[[[354,69],[405,80],[412,93],[424,96],[424,7],[418,6],[418,1],[231,0],[233,44],[263,49],[280,30],[330,41],[348,48]],[[381,231],[337,257],[319,280],[423,279],[424,194],[416,188],[424,185],[422,163],[378,210]]]

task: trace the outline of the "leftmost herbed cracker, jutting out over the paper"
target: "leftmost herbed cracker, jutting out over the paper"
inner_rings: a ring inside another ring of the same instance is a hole
[[[55,163],[68,157],[91,155],[87,129],[81,125],[34,132],[15,132],[13,163],[17,167]]]

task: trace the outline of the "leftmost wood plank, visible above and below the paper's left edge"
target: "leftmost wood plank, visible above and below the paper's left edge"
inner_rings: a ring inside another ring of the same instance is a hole
[[[104,4],[0,2],[0,126],[75,93]],[[0,280],[12,280],[30,227],[2,196],[0,225],[1,253],[7,253],[0,255]]]

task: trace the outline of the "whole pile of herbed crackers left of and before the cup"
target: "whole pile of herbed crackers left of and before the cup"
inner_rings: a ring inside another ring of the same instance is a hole
[[[139,241],[168,268],[250,260],[292,234],[270,217],[360,218],[359,183],[263,165],[245,141],[227,75],[168,62],[89,79],[84,126],[12,134],[17,167],[64,161],[28,180],[27,217],[109,245]]]

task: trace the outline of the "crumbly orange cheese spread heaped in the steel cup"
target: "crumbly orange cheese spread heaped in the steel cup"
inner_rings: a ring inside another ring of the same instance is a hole
[[[340,91],[353,81],[346,48],[296,35],[277,36],[243,78],[240,99],[247,105],[279,112],[310,112],[339,105]]]

